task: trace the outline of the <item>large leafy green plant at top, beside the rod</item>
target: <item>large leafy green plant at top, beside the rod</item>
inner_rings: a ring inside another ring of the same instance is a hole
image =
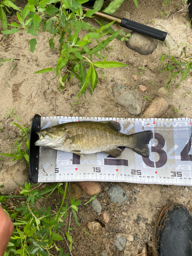
[[[119,8],[123,1],[114,0],[103,11],[111,14]],[[93,62],[92,56],[95,55],[99,59],[102,59],[102,49],[108,46],[109,42],[116,38],[122,30],[115,31],[108,38],[99,41],[98,39],[109,33],[107,29],[115,21],[103,26],[100,25],[99,29],[95,29],[89,23],[84,22],[84,17],[92,17],[96,11],[101,9],[103,1],[97,0],[94,4],[94,7],[96,6],[97,9],[89,10],[86,14],[83,14],[81,3],[86,2],[88,0],[64,0],[60,2],[60,6],[57,8],[57,0],[52,0],[51,2],[49,0],[28,0],[28,4],[20,12],[20,15],[18,12],[16,13],[19,24],[9,24],[13,28],[2,32],[6,35],[19,31],[32,34],[34,38],[29,40],[31,52],[35,51],[37,33],[39,31],[49,32],[50,48],[59,53],[57,65],[56,68],[46,68],[35,72],[35,74],[53,71],[55,77],[58,76],[60,91],[65,86],[67,78],[69,77],[72,80],[75,75],[80,81],[80,84],[78,84],[80,91],[76,95],[76,99],[82,92],[86,96],[86,90],[89,84],[90,93],[93,94],[98,82],[98,75],[95,68],[127,66],[117,61],[104,60]],[[134,2],[136,3],[136,1]],[[71,13],[68,11],[69,8],[72,11]],[[81,29],[88,30],[89,33],[80,39],[78,34]],[[93,40],[96,40],[97,45],[89,48],[88,46]],[[88,72],[86,71],[87,67],[89,68]]]

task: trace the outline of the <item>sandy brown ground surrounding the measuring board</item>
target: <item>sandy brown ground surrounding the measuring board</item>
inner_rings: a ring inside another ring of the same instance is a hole
[[[184,2],[184,1],[182,1]],[[25,1],[16,1],[20,7],[25,6]],[[105,5],[108,2],[104,3]],[[132,0],[125,0],[116,16],[132,19],[136,22],[148,25],[163,26],[169,35],[177,42],[177,44],[188,44],[187,36],[191,36],[191,28],[187,27],[189,24],[189,15],[185,12],[177,12],[179,6],[182,9],[183,4],[180,0],[172,1],[172,5],[166,8],[167,13],[170,9],[170,15],[164,14],[161,18],[162,2],[161,1],[138,1],[139,10],[135,7]],[[153,21],[155,22],[153,22]],[[8,16],[8,23],[16,22],[16,16]],[[97,27],[94,20],[87,19],[93,26]],[[119,29],[113,25],[115,30]],[[0,24],[0,31],[3,30]],[[129,33],[128,30],[124,30]],[[83,34],[84,32],[82,32]],[[103,50],[103,56],[108,55],[107,59],[111,61],[121,61],[126,63],[129,67],[115,68],[115,69],[97,69],[99,82],[94,91],[93,96],[87,93],[86,99],[80,96],[78,102],[75,104],[75,112],[73,111],[72,103],[75,103],[75,95],[79,91],[77,86],[78,80],[74,77],[70,82],[67,80],[65,88],[62,92],[58,90],[58,79],[54,79],[54,73],[33,74],[35,71],[45,68],[55,68],[58,55],[54,50],[50,50],[47,34],[40,32],[37,36],[37,45],[34,53],[29,50],[29,39],[32,35],[24,32],[19,32],[8,36],[8,39],[0,34],[0,59],[14,58],[17,66],[10,72],[13,65],[11,61],[5,62],[0,66],[0,129],[4,126],[4,131],[0,130],[0,152],[10,153],[11,144],[15,142],[18,136],[18,129],[11,122],[16,121],[20,125],[31,125],[32,118],[35,114],[42,117],[45,116],[86,116],[86,117],[125,117],[138,118],[139,116],[132,116],[127,113],[113,96],[113,87],[115,83],[123,83],[124,86],[139,93],[143,98],[142,111],[150,103],[149,97],[152,99],[155,95],[163,96],[158,93],[158,89],[163,87],[168,81],[165,73],[158,73],[154,70],[158,67],[161,52],[168,54],[168,49],[161,41],[158,41],[156,50],[151,55],[140,55],[125,46],[125,42],[114,39],[110,46],[114,50]],[[184,45],[171,51],[171,55],[178,57]],[[190,53],[191,48],[186,46],[186,53]],[[138,70],[138,67],[145,68],[145,70]],[[104,74],[101,73],[104,72]],[[105,76],[103,78],[103,76]],[[137,80],[133,78],[137,77]],[[179,118],[189,117],[191,115],[191,99],[192,95],[185,94],[191,92],[191,76],[181,83],[178,88],[178,82],[181,75],[176,78],[176,82],[172,81],[168,88],[169,94],[163,96],[169,104],[168,111],[162,116],[163,118]],[[153,84],[151,83],[153,82]],[[147,90],[142,92],[139,86],[146,86]],[[182,97],[182,95],[187,95]],[[8,109],[13,110],[14,114],[18,116],[21,121],[16,120],[13,116],[4,118],[9,113]],[[179,111],[175,113],[174,108]],[[182,115],[181,115],[182,114]],[[3,123],[1,123],[3,122]],[[13,163],[11,159],[4,158],[0,162],[0,169],[2,166],[11,166]],[[1,181],[0,181],[1,182]],[[103,186],[104,183],[101,183]],[[111,185],[111,183],[110,183]],[[192,190],[184,189],[183,186],[168,186],[168,185],[147,185],[147,184],[128,184],[119,183],[127,194],[128,200],[124,204],[115,205],[108,200],[107,192],[101,193],[98,200],[102,203],[101,215],[97,215],[92,209],[91,204],[79,207],[77,214],[78,221],[81,227],[88,230],[87,224],[89,221],[98,221],[101,224],[101,229],[98,234],[93,237],[88,236],[76,226],[73,218],[71,220],[71,227],[73,231],[70,232],[74,238],[73,255],[100,255],[104,249],[108,250],[107,255],[124,255],[136,256],[141,253],[143,244],[146,243],[148,254],[152,254],[154,244],[154,223],[161,208],[169,202],[178,202],[186,206],[192,213],[191,194]],[[132,188],[139,191],[138,194],[132,195]],[[56,202],[60,203],[60,196],[54,195]],[[53,200],[54,198],[52,198]],[[54,199],[54,200],[55,200]],[[83,192],[81,201],[86,202],[90,199],[86,193]],[[49,206],[50,200],[42,202],[43,205]],[[52,207],[57,209],[52,202]],[[104,214],[104,217],[103,217]],[[69,215],[68,215],[69,216]],[[107,223],[106,216],[109,218]],[[104,221],[105,219],[105,221]],[[69,219],[66,220],[69,223]],[[68,225],[68,224],[67,224]],[[122,252],[119,252],[114,247],[116,236],[126,237],[126,247]],[[133,241],[131,238],[133,237]],[[145,242],[144,241],[148,242]],[[147,240],[146,240],[147,239]],[[66,253],[68,252],[66,242],[61,241],[57,243],[58,247],[62,247]],[[54,255],[58,252],[54,251]]]

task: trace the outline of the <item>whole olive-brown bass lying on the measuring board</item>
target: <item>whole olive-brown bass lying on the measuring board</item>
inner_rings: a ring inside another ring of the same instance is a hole
[[[125,146],[142,157],[149,157],[147,144],[152,138],[152,131],[126,135],[120,130],[120,123],[115,121],[67,122],[37,132],[39,139],[35,145],[71,152],[81,157],[83,154],[98,152],[118,157],[122,153],[119,147]]]

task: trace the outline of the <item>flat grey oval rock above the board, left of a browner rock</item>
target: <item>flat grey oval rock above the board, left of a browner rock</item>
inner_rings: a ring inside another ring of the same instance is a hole
[[[142,108],[142,98],[121,83],[116,83],[113,89],[118,104],[132,115],[139,115]]]

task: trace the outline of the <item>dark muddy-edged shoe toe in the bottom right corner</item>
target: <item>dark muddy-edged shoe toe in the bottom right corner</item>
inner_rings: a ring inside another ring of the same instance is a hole
[[[182,204],[169,203],[156,227],[157,256],[192,255],[192,217]]]

